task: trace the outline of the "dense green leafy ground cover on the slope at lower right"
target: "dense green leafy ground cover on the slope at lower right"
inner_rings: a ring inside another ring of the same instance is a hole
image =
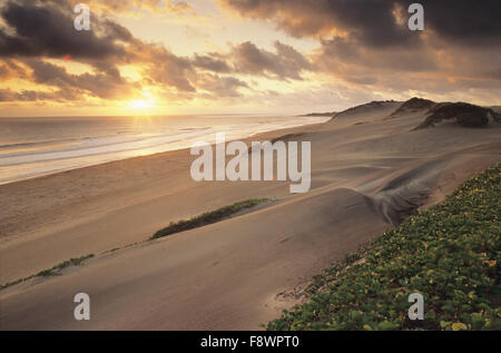
[[[500,330],[501,164],[314,278],[267,330]],[[407,317],[411,293],[424,320]]]

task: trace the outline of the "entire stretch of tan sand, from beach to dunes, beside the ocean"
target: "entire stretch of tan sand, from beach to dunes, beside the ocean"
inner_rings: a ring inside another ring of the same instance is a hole
[[[295,140],[312,141],[305,195],[278,182],[195,183],[186,150],[0,186],[9,205],[0,283],[97,255],[1,291],[0,329],[257,329],[322,267],[501,160],[501,125],[413,130],[430,109],[421,102],[371,102],[294,129],[304,133]],[[291,131],[274,134],[265,137]],[[101,254],[170,220],[269,196],[277,202],[256,212]],[[72,317],[79,292],[91,297],[89,322]]]

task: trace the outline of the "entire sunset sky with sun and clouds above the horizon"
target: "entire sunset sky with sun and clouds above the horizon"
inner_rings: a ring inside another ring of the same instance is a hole
[[[90,30],[75,29],[77,3]],[[0,116],[501,105],[501,1],[0,0]]]

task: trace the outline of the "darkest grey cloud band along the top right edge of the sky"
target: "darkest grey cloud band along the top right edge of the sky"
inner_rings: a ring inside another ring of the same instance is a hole
[[[425,27],[456,42],[499,45],[499,0],[219,0],[246,17],[274,20],[295,37],[347,32],[366,46],[416,45],[419,33],[406,29],[410,3],[424,6]],[[404,22],[395,21],[403,9]]]

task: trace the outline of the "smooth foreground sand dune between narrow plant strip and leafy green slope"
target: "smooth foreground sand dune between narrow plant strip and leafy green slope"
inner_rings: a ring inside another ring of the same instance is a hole
[[[266,306],[277,293],[385,226],[356,192],[294,198],[102,256],[20,294],[7,294],[2,329],[258,329],[277,314]],[[68,315],[72,296],[81,291],[94,300],[96,313],[84,325]],[[49,306],[41,315],[41,307]]]

